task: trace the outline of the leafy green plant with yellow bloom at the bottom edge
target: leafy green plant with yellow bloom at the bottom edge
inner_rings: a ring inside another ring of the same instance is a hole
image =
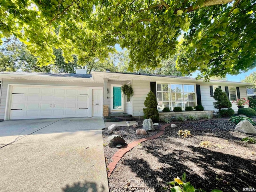
[[[182,179],[174,178],[173,181],[167,182],[169,186],[171,186],[171,192],[206,192],[205,190],[199,188],[196,189],[194,186],[190,184],[190,182],[186,182],[186,173],[184,172],[182,175]],[[222,192],[221,190],[214,189],[211,192]]]

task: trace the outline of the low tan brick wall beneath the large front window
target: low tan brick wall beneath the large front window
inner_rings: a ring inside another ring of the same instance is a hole
[[[200,117],[202,114],[207,114],[213,117],[214,111],[182,111],[182,112],[160,112],[159,117],[165,119],[176,119],[178,116],[184,116],[185,118],[188,115],[196,115]]]

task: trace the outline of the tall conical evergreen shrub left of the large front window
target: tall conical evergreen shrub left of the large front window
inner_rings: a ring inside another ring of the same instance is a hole
[[[153,122],[159,121],[157,105],[156,96],[150,91],[144,101],[144,106],[146,107],[143,109],[144,119],[151,118]]]

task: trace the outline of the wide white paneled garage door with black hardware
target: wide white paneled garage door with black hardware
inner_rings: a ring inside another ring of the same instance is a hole
[[[10,120],[88,116],[87,88],[13,86],[10,102]]]

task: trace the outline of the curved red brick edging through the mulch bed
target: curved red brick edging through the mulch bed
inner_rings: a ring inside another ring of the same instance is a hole
[[[162,136],[164,134],[164,129],[169,126],[170,124],[165,124],[162,125],[160,127],[160,131],[150,137],[147,138],[141,138],[139,140],[136,140],[132,143],[129,143],[128,145],[124,146],[123,148],[119,149],[113,156],[112,156],[112,162],[110,164],[108,164],[108,178],[111,176],[112,172],[114,171],[114,169],[116,168],[116,164],[121,160],[121,158],[124,156],[124,154],[126,154],[128,151],[130,151],[132,148],[134,148],[135,146],[137,146],[139,143],[142,143],[144,141],[148,141],[148,140],[152,140],[155,138],[158,138],[160,136]]]

